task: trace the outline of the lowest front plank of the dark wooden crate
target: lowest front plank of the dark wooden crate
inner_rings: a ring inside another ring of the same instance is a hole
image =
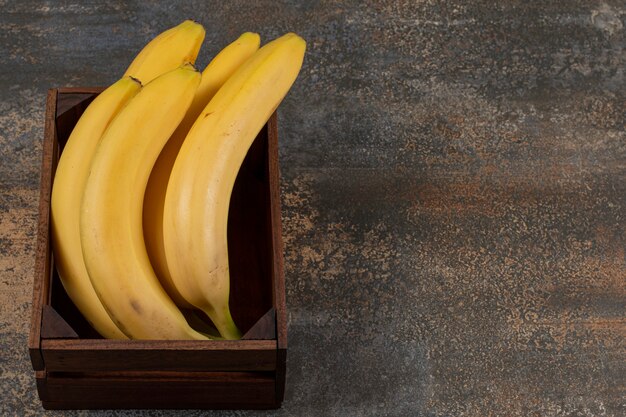
[[[261,372],[48,373],[44,408],[273,408],[275,381]]]

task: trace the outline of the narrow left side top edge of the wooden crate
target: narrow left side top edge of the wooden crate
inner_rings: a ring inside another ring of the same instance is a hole
[[[37,249],[35,251],[35,275],[33,279],[33,302],[28,335],[28,350],[33,369],[44,369],[41,355],[41,320],[44,294],[48,293],[50,277],[50,194],[52,190],[52,161],[55,148],[54,116],[56,112],[56,90],[48,91],[46,99],[46,122],[41,159],[41,182],[39,190],[39,223],[37,225]]]

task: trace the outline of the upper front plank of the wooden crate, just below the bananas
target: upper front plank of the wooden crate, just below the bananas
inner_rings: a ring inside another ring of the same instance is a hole
[[[41,347],[49,372],[276,370],[275,340],[47,339]]]

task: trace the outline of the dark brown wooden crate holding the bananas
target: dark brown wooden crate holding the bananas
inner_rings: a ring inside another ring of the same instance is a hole
[[[50,247],[50,192],[76,121],[102,88],[48,93],[29,351],[46,409],[278,408],[287,328],[276,114],[257,136],[231,198],[231,312],[242,340],[101,338],[71,303]]]

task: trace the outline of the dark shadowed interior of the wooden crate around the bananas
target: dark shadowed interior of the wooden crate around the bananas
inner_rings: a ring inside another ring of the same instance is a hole
[[[96,94],[60,93],[57,98],[58,153],[63,150],[73,126]],[[270,216],[267,126],[261,130],[239,171],[230,201],[228,249],[231,273],[230,309],[243,334],[273,313],[272,236]],[[53,172],[57,161],[53,161]],[[67,296],[51,268],[49,305],[79,338],[98,339]],[[208,318],[206,318],[208,320]],[[275,323],[272,323],[275,326]],[[274,327],[272,326],[272,327]],[[62,327],[62,326],[61,326]],[[263,327],[263,326],[261,326]],[[251,332],[252,333],[252,332]],[[256,339],[275,338],[275,328],[255,331]],[[265,333],[265,334],[263,334]],[[67,337],[59,334],[58,337]]]

